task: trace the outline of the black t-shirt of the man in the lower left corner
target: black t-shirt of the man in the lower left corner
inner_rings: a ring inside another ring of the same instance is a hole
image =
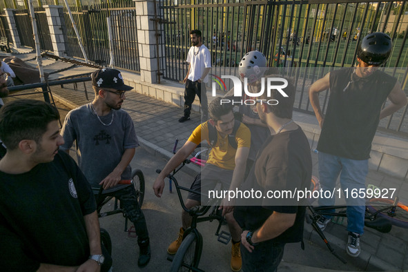
[[[77,164],[52,162],[10,175],[0,171],[1,271],[36,271],[40,263],[77,266],[89,257],[84,215],[95,197]]]

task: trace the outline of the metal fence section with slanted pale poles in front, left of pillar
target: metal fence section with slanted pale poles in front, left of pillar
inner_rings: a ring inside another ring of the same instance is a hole
[[[126,6],[128,3],[128,6]],[[137,25],[133,2],[121,2],[120,8],[108,4],[71,7],[79,35],[84,43],[86,55],[95,64],[110,63],[108,23],[111,21],[113,55],[115,66],[126,70],[139,71],[139,50],[137,48]],[[66,53],[70,57],[83,58],[77,36],[70,22],[66,8],[60,8]]]

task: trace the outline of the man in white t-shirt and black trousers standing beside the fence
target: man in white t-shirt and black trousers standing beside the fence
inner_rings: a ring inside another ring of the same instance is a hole
[[[202,119],[208,119],[208,102],[206,96],[206,86],[208,82],[208,72],[211,68],[211,54],[208,48],[202,44],[200,30],[191,30],[190,32],[191,46],[188,51],[187,62],[188,72],[184,78],[186,88],[184,90],[184,115],[179,119],[179,122],[186,122],[190,119],[191,104],[198,95],[202,108]],[[202,84],[203,83],[203,84]]]

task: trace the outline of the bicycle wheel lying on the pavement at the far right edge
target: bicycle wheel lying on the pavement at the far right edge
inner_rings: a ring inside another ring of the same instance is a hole
[[[408,206],[398,202],[395,213],[391,214],[392,204],[394,204],[394,200],[371,198],[371,200],[367,202],[367,208],[370,213],[387,218],[391,224],[408,229]]]

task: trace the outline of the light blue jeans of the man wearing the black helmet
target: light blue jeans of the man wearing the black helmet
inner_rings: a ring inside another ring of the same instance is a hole
[[[358,193],[360,188],[365,189],[365,178],[368,171],[368,159],[347,159],[319,152],[319,177],[322,190],[333,192],[333,188],[336,187],[336,180],[340,175],[342,197],[345,197],[344,190],[348,189],[348,197],[346,198],[347,231],[360,235],[364,232],[365,199],[363,197],[351,197],[351,191],[354,190]],[[319,199],[320,206],[332,206],[334,203],[334,197],[321,197]]]

